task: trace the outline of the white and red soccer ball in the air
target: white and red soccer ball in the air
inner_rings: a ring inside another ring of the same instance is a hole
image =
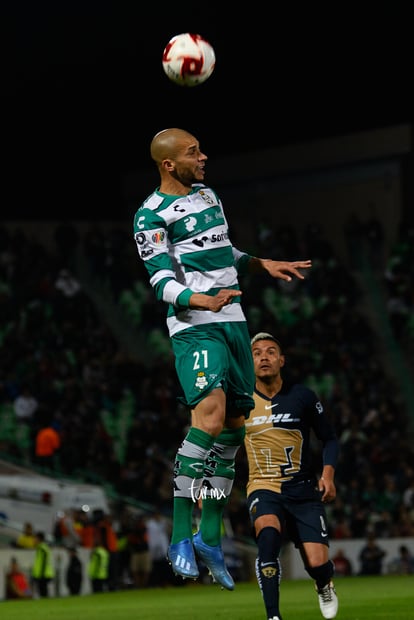
[[[197,86],[214,71],[216,56],[213,47],[199,34],[177,34],[167,43],[162,66],[175,84]]]

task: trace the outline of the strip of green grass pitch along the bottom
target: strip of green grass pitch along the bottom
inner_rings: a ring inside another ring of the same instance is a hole
[[[414,576],[345,577],[335,580],[338,620],[408,620],[414,618]],[[313,582],[281,585],[283,620],[322,618]],[[266,620],[256,583],[237,583],[233,592],[218,586],[127,590],[3,601],[2,620]]]

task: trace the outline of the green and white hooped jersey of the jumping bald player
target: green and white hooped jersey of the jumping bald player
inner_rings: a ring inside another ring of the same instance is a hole
[[[246,320],[240,297],[220,312],[188,307],[193,293],[239,290],[238,273],[250,259],[232,246],[223,206],[211,188],[194,184],[187,196],[157,189],[135,214],[134,236],[157,299],[169,304],[170,336],[195,325]]]

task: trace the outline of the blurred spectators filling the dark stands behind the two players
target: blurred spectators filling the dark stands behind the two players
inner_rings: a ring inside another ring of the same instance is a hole
[[[413,536],[410,419],[362,311],[366,293],[317,224],[301,236],[263,225],[258,240],[260,255],[313,261],[303,282],[246,278],[243,304],[251,333],[277,333],[294,359],[286,377],[312,387],[332,416],[341,443],[332,539]],[[120,496],[169,514],[171,463],[189,417],[177,400],[164,316],[142,284],[128,227],[93,225],[81,235],[67,224],[55,241],[50,248],[24,229],[0,230],[0,452],[36,466],[36,437],[52,427],[60,438],[55,474],[104,480]],[[400,338],[413,316],[412,248],[412,236],[399,240],[384,274],[390,283],[398,264],[399,286],[390,284],[389,294],[401,294],[410,309],[398,327],[396,304],[388,310]],[[89,278],[122,309],[131,339],[144,337],[151,350],[157,343],[150,365],[145,347],[135,357],[118,343],[89,294]],[[250,539],[239,452],[228,518],[235,537]]]

